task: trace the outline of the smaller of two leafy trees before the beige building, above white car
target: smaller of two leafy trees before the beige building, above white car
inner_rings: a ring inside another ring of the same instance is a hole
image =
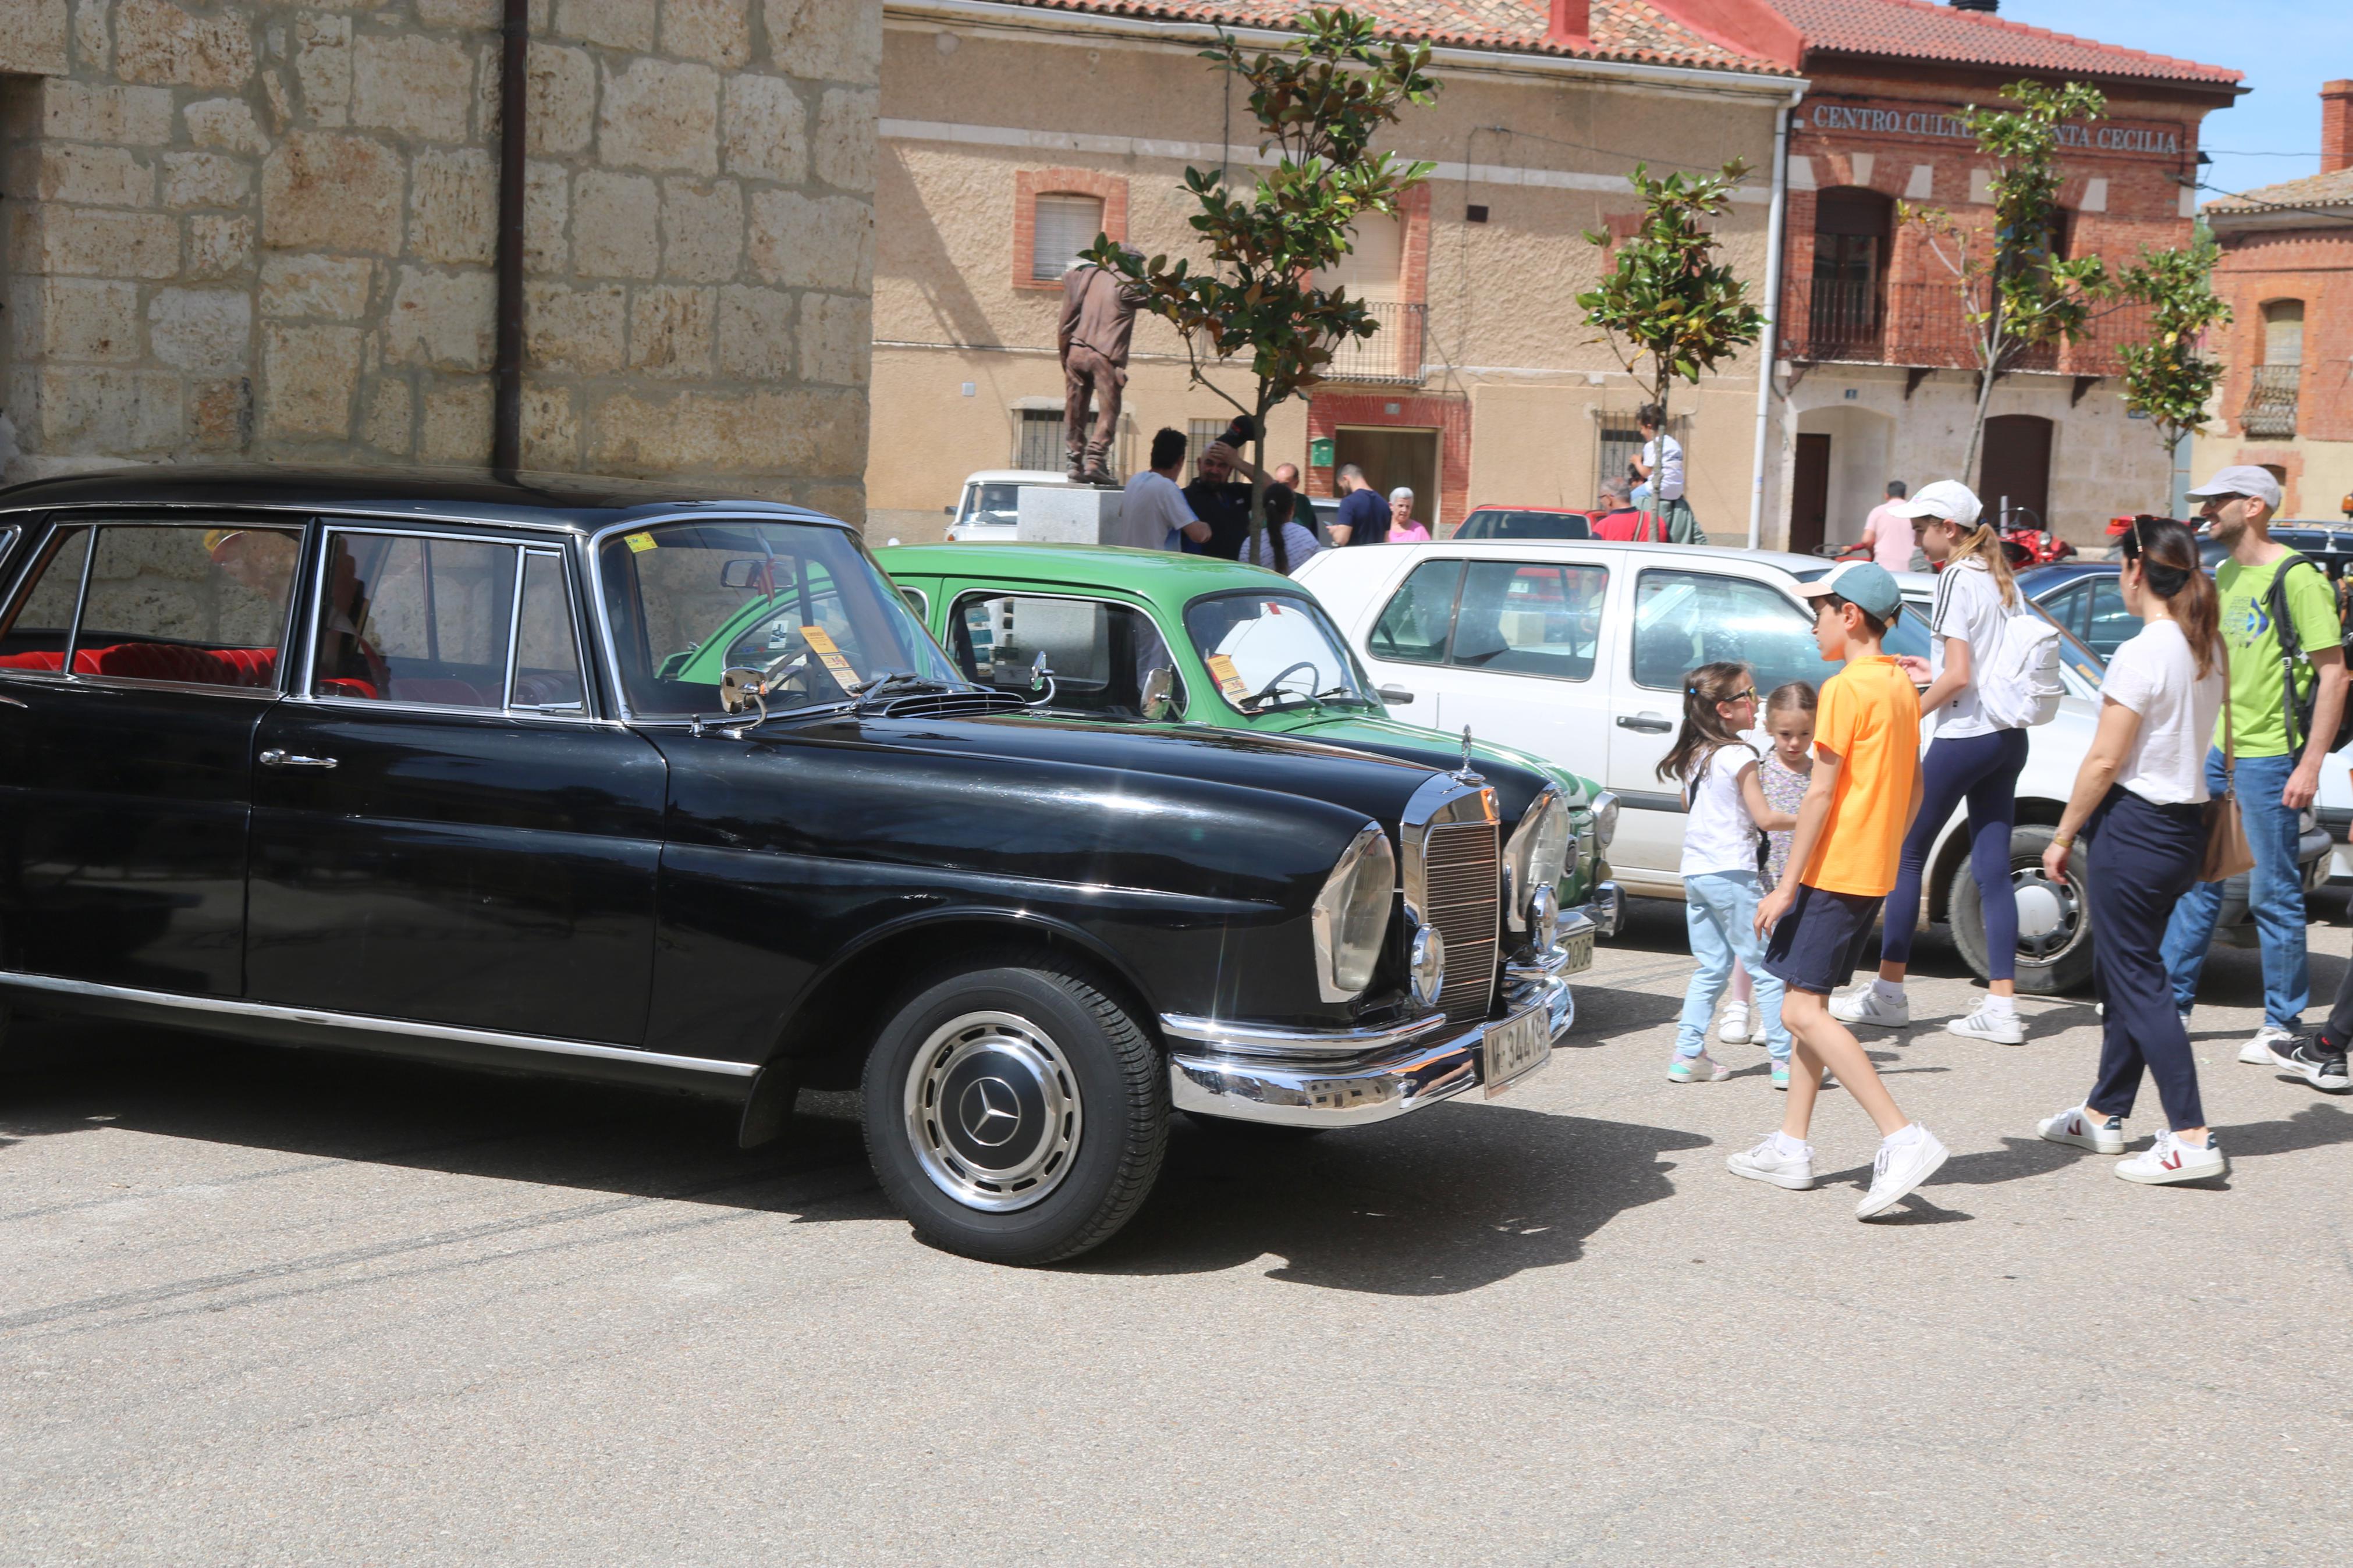
[[[1607,343],[1659,404],[1666,418],[1675,376],[1699,386],[1734,350],[1755,343],[1765,313],[1748,301],[1748,284],[1734,277],[1715,252],[1711,223],[1732,205],[1748,176],[1739,158],[1715,174],[1668,174],[1652,179],[1635,165],[1628,183],[1642,197],[1642,226],[1617,242],[1617,256],[1600,287],[1577,296],[1598,343]],[[1586,242],[1607,249],[1612,237],[1586,230]],[[1685,454],[1689,461],[1689,454]],[[1652,487],[1652,508],[1659,505]]]

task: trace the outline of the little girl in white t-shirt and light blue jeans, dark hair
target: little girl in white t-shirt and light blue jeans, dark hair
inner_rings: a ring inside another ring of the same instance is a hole
[[[1673,1084],[1718,1081],[1729,1067],[1708,1056],[1708,1018],[1732,980],[1732,964],[1748,969],[1765,1046],[1788,1060],[1781,1027],[1781,980],[1765,971],[1758,940],[1758,832],[1795,827],[1798,818],[1765,804],[1758,755],[1741,741],[1755,729],[1758,693],[1748,665],[1699,665],[1682,677],[1682,731],[1659,762],[1659,778],[1682,785],[1682,924],[1692,938],[1692,985],[1675,1025]]]

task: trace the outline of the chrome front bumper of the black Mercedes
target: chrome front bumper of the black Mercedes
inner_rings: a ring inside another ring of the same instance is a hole
[[[1591,933],[1584,952],[1591,964]],[[1577,1020],[1567,983],[1574,969],[1584,969],[1574,945],[1508,969],[1504,1018],[1541,1006],[1560,1044]],[[1369,1126],[1487,1081],[1487,1025],[1457,1030],[1442,1016],[1379,1030],[1278,1030],[1162,1013],[1160,1032],[1169,1041],[1169,1103],[1228,1121]]]

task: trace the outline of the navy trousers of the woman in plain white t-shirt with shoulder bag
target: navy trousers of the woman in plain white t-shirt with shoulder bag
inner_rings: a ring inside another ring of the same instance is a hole
[[[2099,1088],[2085,1105],[2129,1117],[2141,1072],[2158,1081],[2165,1121],[2205,1126],[2198,1063],[2165,976],[2165,922],[2205,858],[2205,806],[2155,806],[2122,785],[2082,825],[2092,884],[2092,990],[2106,1006]]]

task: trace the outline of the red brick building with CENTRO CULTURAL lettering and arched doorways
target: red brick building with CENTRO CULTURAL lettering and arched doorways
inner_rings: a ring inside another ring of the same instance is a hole
[[[1958,110],[2021,78],[2099,87],[2108,115],[2064,141],[2052,244],[2120,266],[2188,242],[2200,122],[2238,96],[2240,73],[2019,26],[1991,5],[1758,0],[1744,28],[1809,82],[1791,120],[1779,461],[1765,473],[1767,517],[1807,550],[1857,538],[1887,480],[1960,475],[1979,393],[1969,322],[1925,233],[1897,221],[1897,202],[1991,221],[1991,169]],[[2118,512],[2169,503],[2172,463],[2120,400],[2118,346],[2139,324],[2113,310],[1995,381],[1974,477],[1988,510],[2007,496],[2085,543]]]

